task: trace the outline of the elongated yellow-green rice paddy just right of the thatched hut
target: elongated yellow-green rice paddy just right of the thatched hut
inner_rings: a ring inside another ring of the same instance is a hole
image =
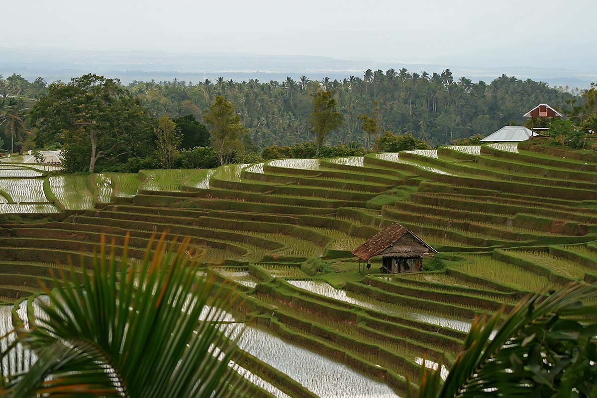
[[[502,285],[513,286],[527,291],[561,287],[556,283],[550,282],[544,276],[516,267],[513,264],[494,260],[489,256],[475,256],[470,257],[469,260],[458,266],[457,269],[472,276],[480,276],[501,283]]]

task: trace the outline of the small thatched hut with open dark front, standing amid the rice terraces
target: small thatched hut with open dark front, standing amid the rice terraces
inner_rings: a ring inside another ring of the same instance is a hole
[[[359,270],[361,261],[370,264],[371,258],[380,255],[382,272],[399,273],[422,271],[423,255],[437,252],[411,230],[394,223],[354,249],[352,254],[359,259]]]

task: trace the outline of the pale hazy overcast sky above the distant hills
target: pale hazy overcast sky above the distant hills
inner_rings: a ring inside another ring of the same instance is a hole
[[[595,70],[595,0],[0,0],[1,47]],[[0,54],[1,56],[1,54]]]

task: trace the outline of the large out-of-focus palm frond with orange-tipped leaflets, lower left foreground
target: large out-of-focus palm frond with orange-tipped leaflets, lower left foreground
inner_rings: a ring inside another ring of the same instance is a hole
[[[129,260],[127,246],[116,260],[102,240],[90,273],[54,279],[48,303],[39,302],[44,316],[17,330],[37,360],[5,375],[0,396],[3,387],[14,398],[219,397],[238,388],[228,366],[235,344],[216,323],[224,313],[215,308],[231,298],[196,276],[188,241],[173,251],[162,235],[143,261]],[[214,322],[198,321],[204,308]]]

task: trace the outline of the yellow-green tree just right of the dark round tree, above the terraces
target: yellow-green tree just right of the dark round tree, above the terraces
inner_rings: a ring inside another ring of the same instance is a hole
[[[247,129],[232,103],[223,95],[216,96],[213,104],[205,110],[203,120],[210,127],[211,146],[218,154],[220,165],[223,165],[230,160],[233,151],[242,149],[242,136]]]

